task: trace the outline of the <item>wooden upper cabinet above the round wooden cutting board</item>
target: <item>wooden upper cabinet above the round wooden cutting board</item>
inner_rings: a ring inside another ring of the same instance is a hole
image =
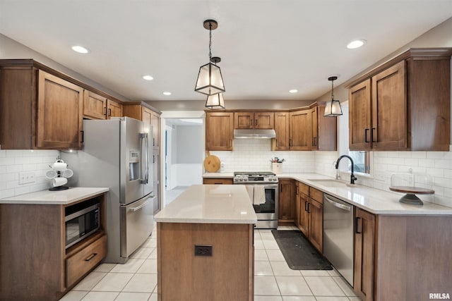
[[[227,150],[234,145],[234,113],[206,112],[206,149]]]

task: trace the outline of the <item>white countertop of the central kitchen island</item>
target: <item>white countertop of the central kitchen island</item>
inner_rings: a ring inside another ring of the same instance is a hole
[[[257,223],[244,185],[191,185],[154,219],[157,223]]]

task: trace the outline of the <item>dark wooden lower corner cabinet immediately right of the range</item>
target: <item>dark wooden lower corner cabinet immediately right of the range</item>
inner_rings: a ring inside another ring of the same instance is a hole
[[[295,180],[280,179],[278,223],[295,222]]]

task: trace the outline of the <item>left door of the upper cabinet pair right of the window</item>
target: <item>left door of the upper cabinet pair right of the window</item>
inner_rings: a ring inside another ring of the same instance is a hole
[[[371,149],[371,82],[364,80],[348,92],[350,150]]]

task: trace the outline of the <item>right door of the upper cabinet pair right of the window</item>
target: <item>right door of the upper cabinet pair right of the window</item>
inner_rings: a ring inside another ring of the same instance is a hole
[[[372,78],[372,148],[407,148],[406,91],[405,61]]]

